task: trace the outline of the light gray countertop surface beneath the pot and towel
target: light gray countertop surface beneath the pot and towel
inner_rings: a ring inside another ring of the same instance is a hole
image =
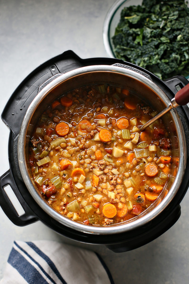
[[[19,83],[39,64],[71,49],[80,57],[106,57],[102,27],[114,0],[1,0],[0,62],[2,112]],[[0,121],[0,175],[9,169],[9,130]],[[0,197],[1,198],[1,197]],[[118,283],[189,283],[189,192],[181,202],[181,217],[151,243],[115,254],[101,245],[86,245],[61,237],[41,222],[17,227],[0,208],[0,279],[14,240],[57,240],[99,252]]]

